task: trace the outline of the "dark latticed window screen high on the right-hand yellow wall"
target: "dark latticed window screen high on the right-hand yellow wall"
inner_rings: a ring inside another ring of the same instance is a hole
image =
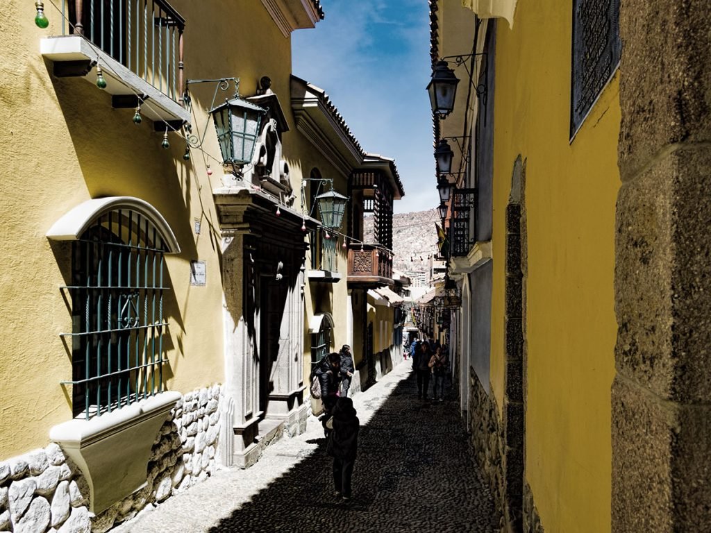
[[[620,60],[619,0],[573,0],[570,138]]]

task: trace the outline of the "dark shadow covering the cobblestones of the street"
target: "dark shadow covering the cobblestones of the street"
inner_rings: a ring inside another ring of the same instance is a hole
[[[382,533],[425,531],[432,524],[457,532],[498,531],[456,402],[422,404],[415,396],[411,376],[361,426],[350,502],[334,495],[332,459],[319,439],[311,456],[209,531]]]

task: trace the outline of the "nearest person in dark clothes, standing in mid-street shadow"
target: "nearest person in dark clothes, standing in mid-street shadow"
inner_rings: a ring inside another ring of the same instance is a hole
[[[351,478],[355,455],[358,453],[358,430],[360,421],[355,416],[353,400],[338,398],[333,407],[333,430],[328,438],[326,453],[333,457],[333,485],[336,497],[351,499]]]

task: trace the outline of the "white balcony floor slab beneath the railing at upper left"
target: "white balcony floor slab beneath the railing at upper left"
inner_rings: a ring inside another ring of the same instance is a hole
[[[156,89],[132,70],[124,67],[97,46],[92,47],[85,38],[75,35],[46,37],[40,41],[40,53],[44,58],[54,62],[98,60],[107,82],[105,92],[111,95],[134,95],[136,93],[146,95],[149,99],[146,105],[141,107],[141,114],[151,120],[191,122],[190,112],[181,104]],[[96,69],[92,69],[84,79],[95,83]]]

